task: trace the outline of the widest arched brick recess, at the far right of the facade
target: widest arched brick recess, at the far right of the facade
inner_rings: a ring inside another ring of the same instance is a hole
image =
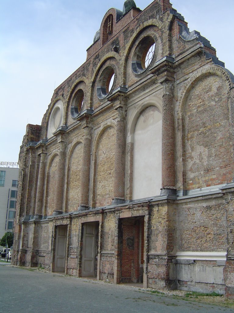
[[[219,67],[190,81],[181,102],[183,189],[231,182],[230,81]]]

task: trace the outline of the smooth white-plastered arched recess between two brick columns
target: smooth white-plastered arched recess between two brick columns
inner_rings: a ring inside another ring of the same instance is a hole
[[[160,194],[162,187],[162,112],[144,105],[132,123],[132,199]],[[131,171],[130,171],[131,172]],[[131,183],[130,183],[131,184]]]

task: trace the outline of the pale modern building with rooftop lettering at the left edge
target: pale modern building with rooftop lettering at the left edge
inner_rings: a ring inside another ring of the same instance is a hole
[[[6,232],[13,231],[18,176],[17,162],[0,162],[0,239]]]

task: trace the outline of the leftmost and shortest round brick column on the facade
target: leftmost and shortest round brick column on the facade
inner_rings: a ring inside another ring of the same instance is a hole
[[[37,182],[37,198],[36,198],[36,207],[35,207],[35,215],[37,215],[38,218],[43,215],[42,204],[43,204],[43,196],[44,196],[45,169],[46,169],[46,153],[41,153],[38,182]]]

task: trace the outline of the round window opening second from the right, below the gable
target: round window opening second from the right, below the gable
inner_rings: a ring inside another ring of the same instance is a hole
[[[104,69],[98,81],[97,96],[99,99],[104,99],[110,93],[110,90],[114,85],[114,80],[114,69],[108,66],[106,69]]]

